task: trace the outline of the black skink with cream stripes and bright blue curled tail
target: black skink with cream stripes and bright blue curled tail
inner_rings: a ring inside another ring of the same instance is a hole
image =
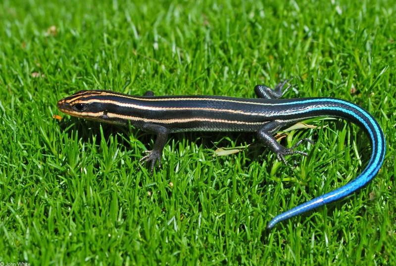
[[[273,134],[281,128],[312,117],[339,117],[361,127],[368,135],[372,152],[363,172],[346,185],[286,211],[269,223],[276,223],[305,213],[324,204],[342,199],[367,184],[375,177],[385,157],[385,137],[378,122],[363,108],[335,98],[279,99],[285,82],[275,89],[257,85],[259,98],[224,96],[154,96],[152,91],[143,96],[132,96],[110,90],[81,90],[59,100],[58,109],[74,117],[104,123],[127,125],[156,134],[154,147],[142,158],[151,164],[151,172],[158,161],[169,133],[191,131],[256,132],[258,138],[272,150],[278,160],[285,156],[307,155],[285,148]]]

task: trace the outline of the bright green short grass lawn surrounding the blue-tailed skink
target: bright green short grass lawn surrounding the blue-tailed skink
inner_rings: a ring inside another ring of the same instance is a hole
[[[285,2],[1,1],[0,261],[395,265],[395,1]],[[363,131],[309,121],[327,127],[282,139],[316,143],[288,157],[295,167],[259,145],[213,157],[254,134],[177,134],[151,176],[139,163],[150,135],[52,119],[80,89],[255,97],[290,77],[285,97],[369,110],[387,155],[365,188],[271,232],[275,215],[361,172]]]

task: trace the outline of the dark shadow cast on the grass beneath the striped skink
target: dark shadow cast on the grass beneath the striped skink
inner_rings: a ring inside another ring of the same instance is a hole
[[[345,124],[341,121],[335,121],[331,124],[335,125],[335,129],[338,131],[342,131],[345,127]],[[77,118],[69,118],[63,119],[59,123],[59,127],[61,131],[66,133],[71,133],[73,131],[78,132],[78,137],[82,139],[83,142],[92,141],[92,136],[96,136],[95,144],[99,145],[101,141],[100,134],[100,125],[103,130],[103,136],[105,139],[108,139],[110,136],[117,138],[117,142],[120,145],[125,146],[127,150],[131,149],[130,142],[128,141],[128,136],[132,133],[134,134],[142,143],[145,144],[147,149],[151,149],[151,141],[155,140],[155,135],[151,133],[146,133],[144,131],[140,131],[133,127],[122,127],[116,125],[110,125],[105,123],[98,123],[89,120],[77,119]],[[352,124],[350,124],[352,125]],[[350,127],[348,125],[348,127]],[[357,129],[357,127],[356,127]],[[352,129],[348,129],[348,131],[352,131]],[[356,145],[357,150],[359,151],[360,159],[365,166],[371,155],[371,148],[367,145],[368,138],[363,130],[357,129],[356,133]],[[227,136],[227,137],[225,137]],[[312,140],[316,143],[318,139],[318,134],[311,134]],[[246,161],[245,167],[249,167],[252,162],[258,161],[262,162],[265,160],[268,153],[272,153],[268,148],[262,145],[259,141],[257,141],[256,133],[254,132],[185,132],[185,133],[172,133],[169,134],[168,140],[174,139],[175,142],[180,142],[183,139],[189,139],[190,141],[194,141],[197,146],[203,146],[205,149],[213,149],[216,150],[219,147],[232,148],[232,143],[234,143],[235,147],[242,147],[241,151],[245,151],[245,157],[248,159]],[[347,139],[346,145],[347,145]],[[286,146],[287,143],[284,139],[280,142],[282,145]],[[249,145],[249,146],[247,146]],[[246,147],[246,148],[244,148]],[[306,152],[310,152],[310,150],[306,150]],[[228,159],[229,156],[219,156],[219,158]],[[291,166],[293,167],[293,161],[291,161]],[[296,160],[294,161],[296,165]]]

